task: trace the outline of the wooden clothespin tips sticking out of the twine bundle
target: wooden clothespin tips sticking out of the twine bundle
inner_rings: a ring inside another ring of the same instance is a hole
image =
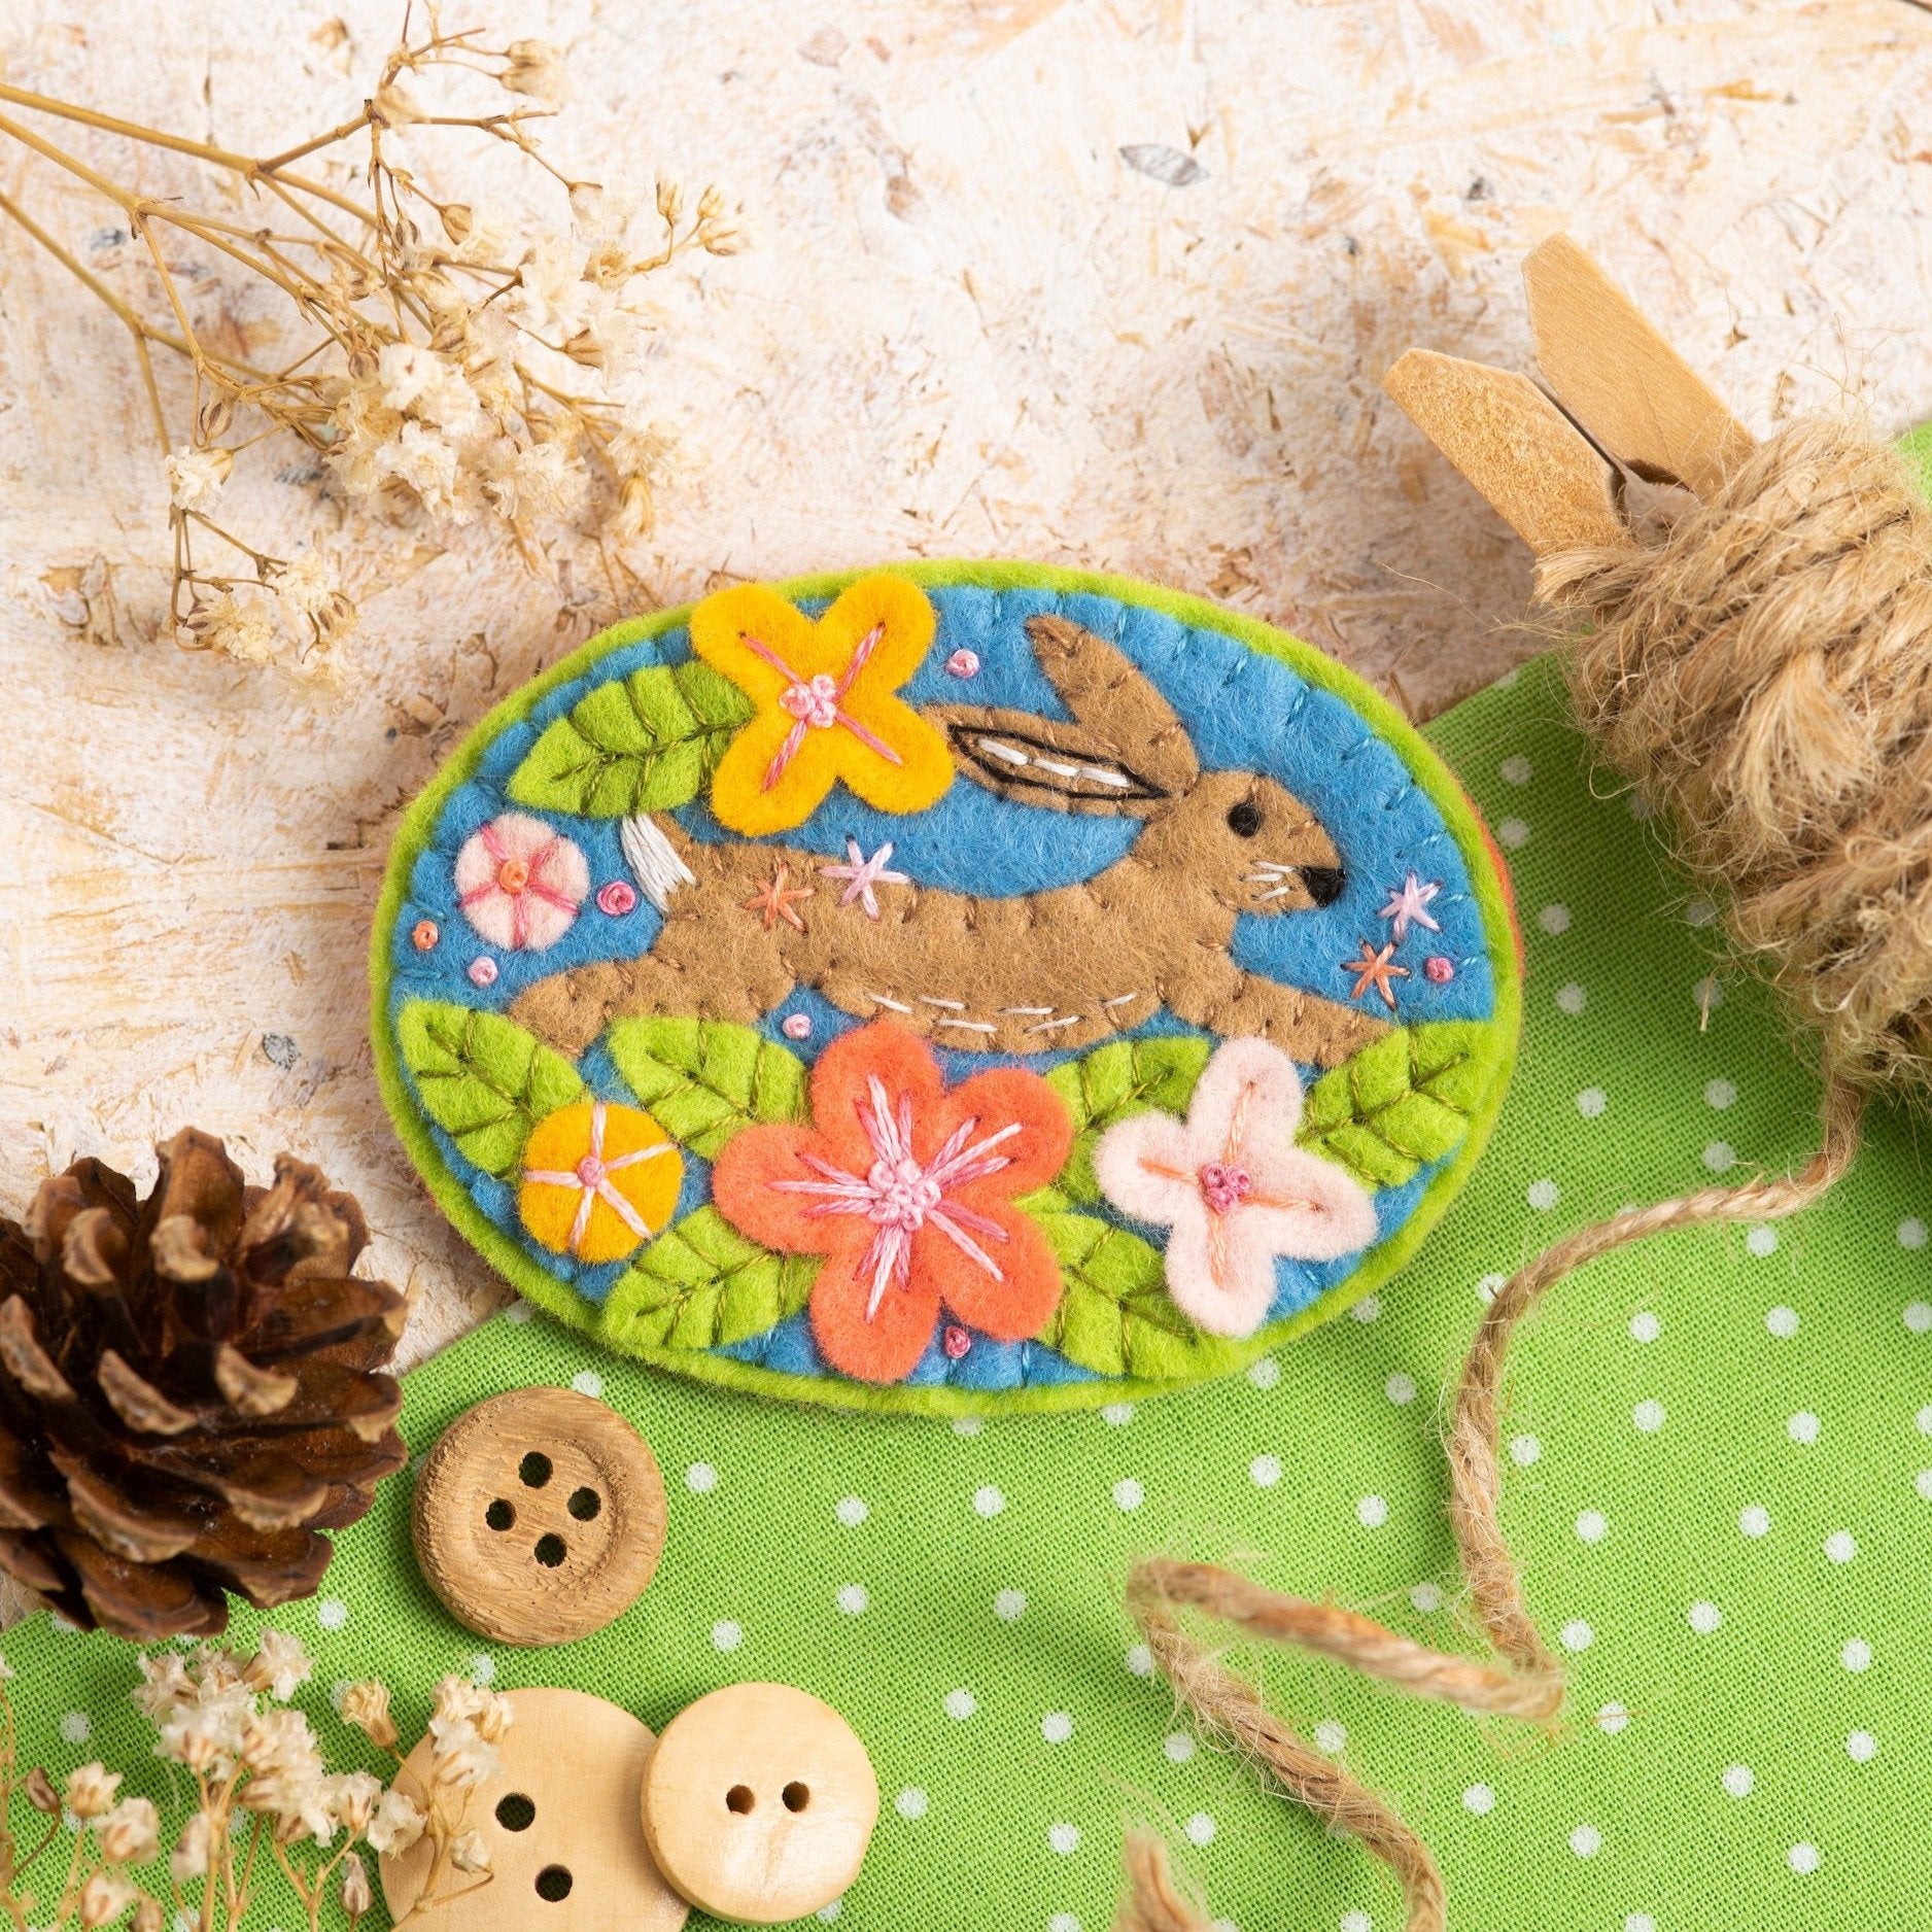
[[[1528,377],[1408,350],[1383,379],[1416,427],[1538,554],[1631,541],[1619,469],[1694,495],[1750,433],[1569,236],[1522,265],[1548,392]]]

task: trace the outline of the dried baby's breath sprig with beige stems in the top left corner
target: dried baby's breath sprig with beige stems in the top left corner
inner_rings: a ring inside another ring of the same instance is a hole
[[[686,209],[668,178],[641,187],[554,166],[533,131],[566,97],[554,46],[444,33],[433,15],[419,37],[404,33],[357,114],[278,155],[238,155],[0,85],[0,102],[226,178],[211,184],[226,199],[205,207],[145,195],[0,114],[0,135],[85,184],[126,224],[131,245],[114,286],[0,191],[0,214],[133,340],[168,491],[168,618],[187,649],[340,676],[357,620],[340,560],[313,547],[278,556],[222,520],[238,460],[286,466],[290,439],[357,508],[444,529],[495,524],[526,558],[547,529],[570,531],[597,545],[614,593],[636,583],[624,547],[651,526],[667,456],[645,390],[655,325],[638,284],[696,251],[734,255],[744,234],[715,187]],[[346,35],[325,50],[342,44]],[[477,85],[512,104],[466,110],[444,99]],[[452,139],[516,151],[562,189],[568,224],[533,230],[479,197],[433,191],[423,170],[448,174]],[[251,220],[234,216],[238,199]],[[280,299],[272,354],[197,327],[189,298],[205,270]],[[102,585],[79,580],[100,566],[77,570],[75,582],[71,570],[43,578],[56,616],[110,641],[112,595],[97,611]]]

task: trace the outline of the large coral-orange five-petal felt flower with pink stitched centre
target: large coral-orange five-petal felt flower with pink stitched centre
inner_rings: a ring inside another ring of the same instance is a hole
[[[1037,1335],[1061,1267],[1012,1206],[1066,1163],[1066,1103],[1039,1074],[997,1068],[947,1092],[925,1041],[893,1020],[835,1039],[811,1068],[813,1126],[748,1126],[711,1198],[742,1235],[823,1254],[811,1333],[840,1374],[898,1381],[941,1308],[991,1335]]]

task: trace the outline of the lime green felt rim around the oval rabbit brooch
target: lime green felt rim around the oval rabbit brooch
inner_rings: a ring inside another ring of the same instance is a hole
[[[1509,1074],[1517,1063],[1517,1043],[1522,1030],[1522,970],[1517,952],[1517,925],[1509,896],[1509,883],[1501,869],[1501,860],[1476,815],[1463,786],[1449,767],[1435,755],[1430,744],[1416,732],[1379,692],[1364,684],[1352,670],[1323,657],[1312,645],[1291,638],[1287,632],[1262,624],[1256,618],[1240,616],[1202,597],[1182,591],[1163,589],[1155,583],[1142,583],[1134,578],[1117,578],[1092,570],[1061,570],[1051,564],[1020,562],[914,562],[891,564],[895,574],[910,578],[920,585],[972,583],[987,589],[1045,589],[1057,593],[1092,593],[1113,597],[1119,603],[1142,605],[1161,611],[1180,624],[1200,630],[1217,630],[1250,651],[1262,651],[1293,667],[1296,676],[1321,690],[1333,692],[1352,705],[1387,740],[1408,767],[1416,784],[1430,796],[1443,823],[1453,833],[1468,869],[1470,889],[1482,908],[1484,935],[1488,939],[1490,968],[1495,981],[1495,1012],[1492,1014],[1493,1074],[1490,1090],[1470,1115],[1468,1132],[1457,1148],[1449,1165],[1430,1182],[1416,1202],[1408,1219],[1372,1250],[1370,1258],[1347,1279],[1310,1302],[1306,1308],[1236,1345],[1229,1374],[1246,1366],[1269,1349],[1306,1333],[1321,1321],[1331,1320],[1364,1294],[1385,1283],[1426,1240],[1430,1229],[1441,1219],[1449,1202],[1461,1192],[1470,1169],[1482,1155],[1495,1126],[1495,1117],[1503,1107],[1503,1094]],[[775,583],[782,597],[837,597],[848,583],[871,570],[821,572],[806,578],[792,578]],[[570,657],[553,665],[541,676],[522,686],[500,705],[497,705],[475,730],[452,753],[448,763],[421,792],[396,829],[390,844],[388,864],[383,873],[383,896],[375,908],[375,931],[369,945],[369,1036],[375,1047],[377,1086],[383,1092],[383,1105],[388,1109],[402,1144],[408,1148],[415,1171],[429,1184],[437,1204],[450,1217],[458,1233],[522,1294],[556,1316],[570,1327],[582,1329],[595,1341],[611,1347],[597,1323],[597,1310],[580,1294],[556,1281],[543,1267],[526,1256],[508,1235],[502,1233],[471,1200],[469,1190],[448,1169],[440,1150],[429,1134],[410,1092],[408,1078],[396,1057],[396,1043],[388,1026],[390,993],[390,941],[396,914],[410,885],[410,871],[415,860],[429,846],[431,831],[444,800],[464,784],[477,769],[483,752],[508,726],[529,713],[529,709],[560,684],[589,670],[597,659],[628,643],[657,638],[667,630],[676,630],[692,612],[692,605],[676,611],[659,611],[653,616],[626,618],[599,632],[580,645]],[[655,1368],[672,1374],[692,1376],[699,1381],[717,1383],[728,1389],[742,1389],[752,1395],[779,1397],[782,1401],[821,1403],[835,1408],[864,1408],[891,1414],[956,1416],[956,1414],[1037,1414],[1045,1410],[1097,1408],[1103,1403],[1142,1401],[1153,1395],[1169,1395],[1177,1389],[1194,1387],[1194,1381],[1134,1381],[1126,1378],[1103,1381],[1070,1381],[1036,1389],[956,1389],[956,1387],[869,1387],[842,1378],[811,1379],[788,1376],[779,1370],[759,1368],[752,1362],[738,1362],[730,1356],[705,1354],[688,1349],[626,1349],[616,1350]]]

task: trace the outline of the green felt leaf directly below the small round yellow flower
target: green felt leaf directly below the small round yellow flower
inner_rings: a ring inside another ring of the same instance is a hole
[[[773,1254],[717,1208],[699,1208],[624,1271],[601,1329],[616,1347],[717,1349],[796,1316],[811,1296],[817,1256]]]

